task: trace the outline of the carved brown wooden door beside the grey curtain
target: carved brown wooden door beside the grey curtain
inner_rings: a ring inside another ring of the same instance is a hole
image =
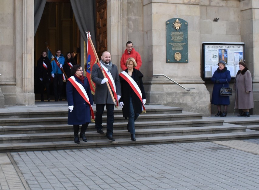
[[[107,0],[96,0],[96,52],[101,59],[107,51]]]

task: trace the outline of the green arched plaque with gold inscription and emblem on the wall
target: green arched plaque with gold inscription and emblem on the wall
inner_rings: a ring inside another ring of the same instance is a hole
[[[188,23],[183,19],[166,21],[166,62],[188,63]]]

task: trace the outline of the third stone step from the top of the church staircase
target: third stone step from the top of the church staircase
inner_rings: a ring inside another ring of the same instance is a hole
[[[126,122],[115,122],[113,125],[114,131],[126,130]],[[183,127],[197,127],[197,126],[220,126],[223,125],[224,120],[213,120],[211,118],[204,118],[202,120],[176,120],[176,121],[136,121],[136,129],[145,128],[183,128]],[[106,128],[106,123],[103,124]],[[73,126],[67,124],[49,124],[49,125],[19,125],[19,126],[0,126],[1,134],[24,134],[24,133],[49,133],[49,132],[72,132]],[[96,131],[95,123],[88,125],[87,131]]]

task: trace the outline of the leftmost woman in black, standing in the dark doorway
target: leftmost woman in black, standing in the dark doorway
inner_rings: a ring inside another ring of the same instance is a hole
[[[37,61],[36,67],[36,77],[40,84],[40,95],[41,101],[44,101],[44,89],[46,88],[47,100],[50,101],[50,79],[51,79],[52,66],[49,58],[47,57],[47,52],[42,51],[39,60]]]

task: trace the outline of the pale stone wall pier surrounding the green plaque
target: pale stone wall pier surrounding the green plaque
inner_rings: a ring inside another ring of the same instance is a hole
[[[196,4],[195,4],[196,3]],[[166,63],[166,25],[171,18],[188,22],[188,63]],[[196,1],[188,4],[162,1],[143,1],[144,55],[141,71],[147,95],[147,104],[182,107],[184,111],[210,116],[210,96],[201,79],[200,10]],[[153,78],[164,74],[190,92],[166,78]]]

